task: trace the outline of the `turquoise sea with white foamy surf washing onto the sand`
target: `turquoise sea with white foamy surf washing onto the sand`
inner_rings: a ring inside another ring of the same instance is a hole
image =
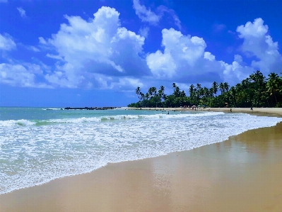
[[[0,107],[0,194],[219,143],[282,118],[208,111]]]

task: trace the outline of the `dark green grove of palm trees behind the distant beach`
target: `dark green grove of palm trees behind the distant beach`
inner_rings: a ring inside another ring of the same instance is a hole
[[[165,94],[165,87],[151,87],[146,94],[136,88],[139,101],[129,104],[129,107],[282,107],[282,77],[272,72],[268,78],[262,72],[254,72],[241,83],[230,87],[227,82],[213,82],[211,88],[193,84],[189,87],[189,96],[181,91],[175,83],[173,93]],[[220,92],[220,95],[216,96]]]

